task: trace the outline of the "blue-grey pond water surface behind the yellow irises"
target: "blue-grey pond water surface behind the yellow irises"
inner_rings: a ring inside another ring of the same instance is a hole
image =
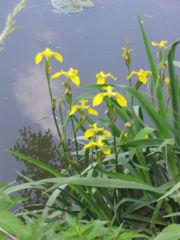
[[[18,1],[0,2],[2,28]],[[56,135],[47,85],[42,66],[34,65],[35,54],[45,47],[60,51],[65,59],[62,67],[78,68],[85,84],[93,83],[100,70],[112,72],[125,83],[126,68],[120,50],[127,37],[133,49],[134,69],[148,67],[138,12],[151,40],[171,42],[180,37],[179,0],[94,0],[94,7],[67,15],[55,12],[50,0],[27,1],[16,18],[18,31],[10,35],[0,54],[0,181],[15,179],[17,171],[24,168],[8,153],[13,146],[28,146],[27,153],[41,153],[37,158],[46,161],[58,159],[47,132],[50,128]],[[56,91],[62,91],[61,85]]]

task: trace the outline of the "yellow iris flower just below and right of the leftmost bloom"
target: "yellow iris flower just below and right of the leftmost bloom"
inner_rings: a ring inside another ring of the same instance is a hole
[[[74,68],[70,68],[68,72],[60,71],[52,75],[51,79],[58,78],[60,76],[65,76],[68,79],[70,79],[74,85],[78,86],[80,85],[80,77],[78,75],[78,70]]]

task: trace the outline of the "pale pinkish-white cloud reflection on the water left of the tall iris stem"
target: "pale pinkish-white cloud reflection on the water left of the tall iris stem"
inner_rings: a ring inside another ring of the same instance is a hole
[[[42,129],[50,128],[56,136],[43,69],[32,65],[20,73],[14,86],[14,93],[23,115],[36,122]]]

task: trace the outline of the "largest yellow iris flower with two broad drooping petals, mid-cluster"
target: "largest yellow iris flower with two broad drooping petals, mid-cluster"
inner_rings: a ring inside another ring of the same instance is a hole
[[[109,98],[114,97],[121,107],[127,106],[127,101],[126,101],[125,97],[123,97],[118,92],[113,92],[112,86],[107,86],[104,89],[106,90],[106,92],[98,93],[93,98],[93,107],[100,105],[102,103],[104,97],[109,97]]]

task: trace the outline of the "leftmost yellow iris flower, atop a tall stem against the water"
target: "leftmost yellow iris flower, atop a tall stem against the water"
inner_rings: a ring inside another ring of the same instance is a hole
[[[43,58],[46,58],[46,60],[48,61],[51,57],[54,57],[59,62],[63,62],[63,56],[60,53],[54,52],[51,49],[46,48],[43,52],[39,52],[36,54],[35,64],[39,64],[43,60]]]

